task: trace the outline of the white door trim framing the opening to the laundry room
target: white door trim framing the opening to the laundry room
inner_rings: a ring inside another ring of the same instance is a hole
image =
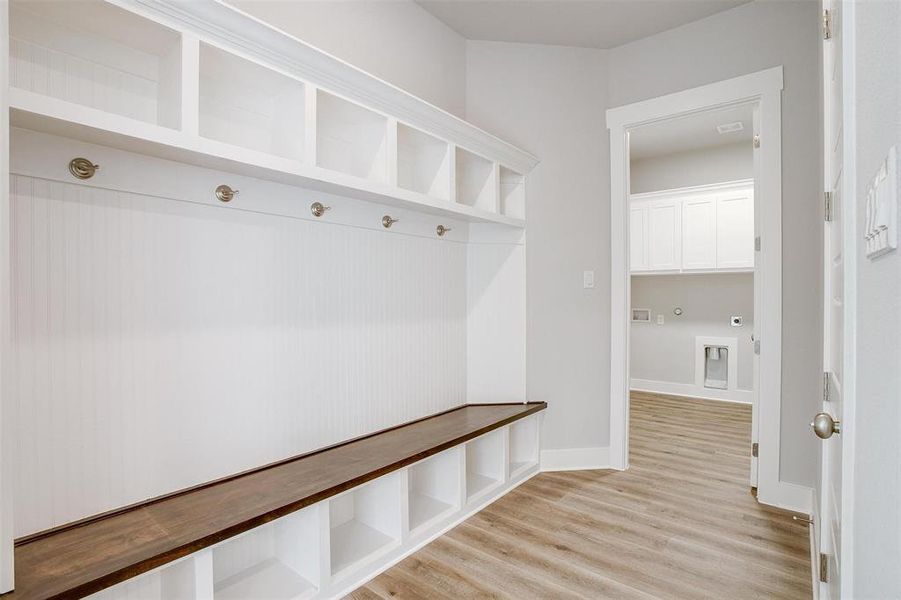
[[[629,132],[701,111],[753,103],[758,108],[760,172],[755,204],[761,208],[755,286],[763,311],[755,315],[761,340],[758,381],[758,499],[782,504],[779,446],[782,397],[782,67],[720,81],[607,111],[610,129],[611,332],[610,464],[629,466]],[[809,494],[808,494],[809,495]],[[798,508],[798,507],[794,507]]]

